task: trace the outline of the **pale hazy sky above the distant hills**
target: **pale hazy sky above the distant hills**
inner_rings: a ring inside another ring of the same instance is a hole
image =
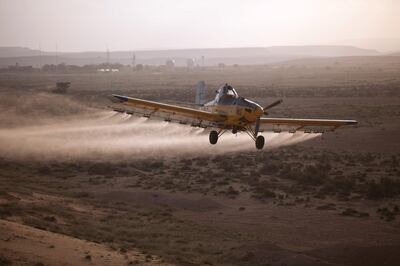
[[[136,50],[371,38],[400,39],[400,0],[0,0],[0,46]]]

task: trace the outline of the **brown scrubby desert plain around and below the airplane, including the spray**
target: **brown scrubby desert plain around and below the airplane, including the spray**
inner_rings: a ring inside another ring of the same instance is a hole
[[[115,113],[230,83],[325,134],[207,131]],[[55,83],[71,82],[66,94]],[[400,57],[119,73],[0,73],[0,265],[398,265]]]

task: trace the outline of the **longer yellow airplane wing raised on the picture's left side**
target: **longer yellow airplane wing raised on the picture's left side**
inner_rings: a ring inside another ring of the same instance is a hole
[[[113,94],[112,96],[114,101],[122,106],[113,107],[114,111],[117,112],[139,114],[145,117],[155,116],[163,118],[166,121],[179,122],[180,124],[190,123],[193,126],[199,127],[218,125],[225,120],[223,115],[194,108],[142,100],[117,94]]]

